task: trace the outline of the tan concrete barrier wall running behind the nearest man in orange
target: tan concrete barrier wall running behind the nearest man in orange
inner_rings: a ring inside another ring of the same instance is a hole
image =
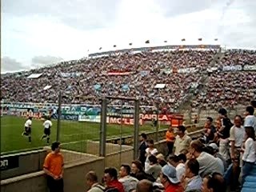
[[[68,152],[66,151],[66,154]],[[73,154],[73,152],[71,153]],[[64,170],[64,191],[86,191],[85,175],[88,171],[94,170],[101,180],[104,173],[104,158],[85,154],[87,158],[74,162],[68,162]],[[15,178],[1,180],[1,191],[3,192],[46,192],[46,177],[43,171],[32,174],[24,174]]]

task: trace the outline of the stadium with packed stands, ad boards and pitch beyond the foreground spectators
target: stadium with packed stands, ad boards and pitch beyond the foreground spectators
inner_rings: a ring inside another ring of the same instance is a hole
[[[106,138],[117,145],[110,146],[112,150],[121,146],[118,153],[122,154],[122,145],[133,146],[122,138],[134,135],[131,119],[136,100],[140,102],[137,134],[158,131],[160,141],[165,138],[162,130],[165,133],[169,126],[195,125],[195,115],[199,123],[189,131],[198,131],[206,117],[217,118],[221,107],[229,111],[230,119],[244,112],[256,99],[255,70],[254,50],[182,45],[96,53],[47,68],[2,75],[2,155],[42,150],[46,146],[40,140],[42,122],[47,116],[53,119],[51,140],[57,137],[63,149],[76,151],[76,161],[83,159],[84,153],[99,155],[94,151],[99,146],[88,141],[101,139],[102,98],[110,96]],[[158,89],[157,85],[164,86]],[[20,135],[27,117],[33,117],[31,143]],[[154,124],[157,117],[159,123]],[[126,161],[119,156],[119,163]]]

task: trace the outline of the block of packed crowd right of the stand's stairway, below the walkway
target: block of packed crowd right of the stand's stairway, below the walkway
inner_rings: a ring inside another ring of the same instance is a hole
[[[214,91],[213,91],[214,90]],[[193,107],[218,109],[246,105],[256,95],[256,72],[211,74],[206,90],[198,94]]]

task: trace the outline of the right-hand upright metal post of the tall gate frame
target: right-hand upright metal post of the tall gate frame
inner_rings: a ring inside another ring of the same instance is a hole
[[[139,100],[134,101],[134,159],[138,158]]]

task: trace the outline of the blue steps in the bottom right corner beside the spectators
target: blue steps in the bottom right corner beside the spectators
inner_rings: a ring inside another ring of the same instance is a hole
[[[255,192],[256,191],[256,164],[250,171],[250,175],[246,177],[246,182],[242,185],[241,192]]]

